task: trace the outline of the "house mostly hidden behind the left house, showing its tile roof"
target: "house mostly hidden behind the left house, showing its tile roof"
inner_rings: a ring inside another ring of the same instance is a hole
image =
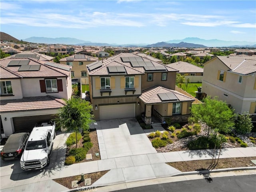
[[[53,62],[53,59],[54,59],[54,57],[40,54],[37,52],[32,52],[32,51],[23,51],[23,52],[15,54],[15,55],[12,55],[8,58],[34,58],[34,59],[38,59],[41,61],[49,61],[49,62]]]

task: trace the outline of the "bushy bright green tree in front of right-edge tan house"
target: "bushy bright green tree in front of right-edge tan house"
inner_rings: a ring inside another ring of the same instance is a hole
[[[218,97],[210,96],[203,99],[203,104],[194,104],[191,107],[191,119],[194,122],[201,121],[206,124],[208,135],[211,130],[228,133],[234,126],[235,114],[226,102],[218,100]]]

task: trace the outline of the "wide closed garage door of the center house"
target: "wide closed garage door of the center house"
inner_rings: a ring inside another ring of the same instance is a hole
[[[135,116],[135,104],[102,105],[100,108],[100,120],[128,118]]]

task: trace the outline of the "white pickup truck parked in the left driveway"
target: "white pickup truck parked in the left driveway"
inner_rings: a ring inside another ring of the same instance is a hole
[[[54,138],[55,122],[36,124],[20,158],[20,167],[23,170],[33,170],[48,166]]]

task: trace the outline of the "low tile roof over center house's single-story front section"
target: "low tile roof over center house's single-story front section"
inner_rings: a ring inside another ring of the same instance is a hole
[[[162,86],[153,86],[146,90],[143,90],[141,96],[139,96],[139,99],[142,100],[145,104],[177,102],[177,101],[162,101],[159,98],[159,96],[158,96],[159,93],[168,93],[168,92],[174,93],[174,95],[178,98],[178,101],[180,101],[180,102],[194,101],[193,98],[190,98],[178,91],[164,88]]]

